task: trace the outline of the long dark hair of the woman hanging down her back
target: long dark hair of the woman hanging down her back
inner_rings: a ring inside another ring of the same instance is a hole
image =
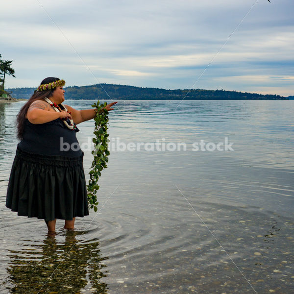
[[[49,84],[55,81],[58,81],[58,77],[47,77],[45,78],[40,85]],[[55,88],[56,89],[56,88]],[[53,95],[55,89],[46,90],[46,91],[35,91],[31,98],[27,100],[25,105],[21,108],[20,112],[16,117],[16,125],[17,125],[17,135],[16,137],[19,140],[23,140],[23,133],[24,133],[24,123],[25,123],[25,114],[27,113],[28,108],[30,105],[36,100],[44,100],[44,98],[49,98]]]

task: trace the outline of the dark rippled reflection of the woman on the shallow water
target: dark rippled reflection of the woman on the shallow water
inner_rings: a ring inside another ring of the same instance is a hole
[[[107,293],[107,285],[100,281],[106,277],[107,258],[102,258],[97,240],[79,243],[78,232],[67,232],[64,243],[47,237],[43,243],[8,249],[9,293]]]

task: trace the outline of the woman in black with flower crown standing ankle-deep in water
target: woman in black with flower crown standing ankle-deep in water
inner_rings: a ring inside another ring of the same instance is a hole
[[[75,217],[89,215],[83,151],[76,124],[93,119],[97,109],[76,110],[63,105],[64,80],[47,77],[17,115],[17,146],[6,207],[19,216],[46,221],[55,234],[56,219],[74,229]],[[105,106],[107,111],[117,102]],[[64,144],[71,148],[64,148]]]

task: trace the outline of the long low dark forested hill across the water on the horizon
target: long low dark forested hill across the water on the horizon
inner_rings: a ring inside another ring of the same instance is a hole
[[[103,88],[102,88],[103,87]],[[236,91],[224,90],[166,90],[159,88],[140,88],[133,86],[112,85],[112,84],[97,84],[92,86],[82,87],[65,87],[66,99],[124,99],[124,100],[181,100],[185,97],[188,99],[288,99],[279,95],[261,95],[252,93],[242,93]],[[6,91],[12,92],[14,98],[30,98],[35,88],[15,88],[7,89]]]

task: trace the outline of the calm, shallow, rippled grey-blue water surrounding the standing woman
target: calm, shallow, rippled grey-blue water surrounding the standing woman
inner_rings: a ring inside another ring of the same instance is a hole
[[[5,208],[24,102],[0,104],[0,293],[294,293],[294,100],[178,102],[119,101],[111,140],[187,150],[112,150],[99,213],[55,238]],[[234,151],[193,151],[225,137]]]

